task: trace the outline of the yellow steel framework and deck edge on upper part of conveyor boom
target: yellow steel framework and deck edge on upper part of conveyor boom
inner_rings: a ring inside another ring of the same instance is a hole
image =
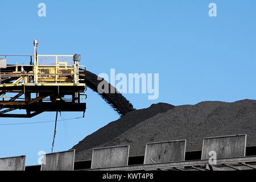
[[[55,57],[56,65],[38,65],[39,57]],[[85,68],[75,62],[74,65],[67,65],[67,62],[58,62],[58,57],[73,57],[73,55],[37,55],[35,65],[12,65],[16,67],[15,72],[0,73],[2,77],[18,77],[10,84],[0,84],[2,86],[21,86],[21,85],[85,85],[79,84],[79,68]],[[20,71],[18,68],[20,67]],[[31,72],[24,72],[23,67],[33,67]],[[1,67],[0,67],[1,69]],[[30,82],[30,76],[34,76],[34,82]]]

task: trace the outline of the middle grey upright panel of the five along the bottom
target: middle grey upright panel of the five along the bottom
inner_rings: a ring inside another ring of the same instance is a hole
[[[130,146],[96,148],[92,155],[92,169],[128,165]]]

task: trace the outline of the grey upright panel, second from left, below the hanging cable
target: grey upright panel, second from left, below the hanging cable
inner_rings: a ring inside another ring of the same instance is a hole
[[[41,171],[73,171],[75,150],[46,154],[43,156]]]

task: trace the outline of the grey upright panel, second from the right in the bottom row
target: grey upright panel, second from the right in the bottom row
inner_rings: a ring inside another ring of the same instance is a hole
[[[144,164],[184,161],[185,148],[186,140],[147,143]]]

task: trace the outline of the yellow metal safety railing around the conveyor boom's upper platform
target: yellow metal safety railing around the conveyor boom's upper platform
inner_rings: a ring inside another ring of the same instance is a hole
[[[73,61],[73,55],[37,55],[35,65],[7,67],[15,67],[15,69],[9,73],[0,72],[0,79],[18,77],[12,84],[79,84],[79,75],[81,75],[79,69],[85,69],[78,61]],[[24,71],[23,67],[32,68],[30,71]]]

